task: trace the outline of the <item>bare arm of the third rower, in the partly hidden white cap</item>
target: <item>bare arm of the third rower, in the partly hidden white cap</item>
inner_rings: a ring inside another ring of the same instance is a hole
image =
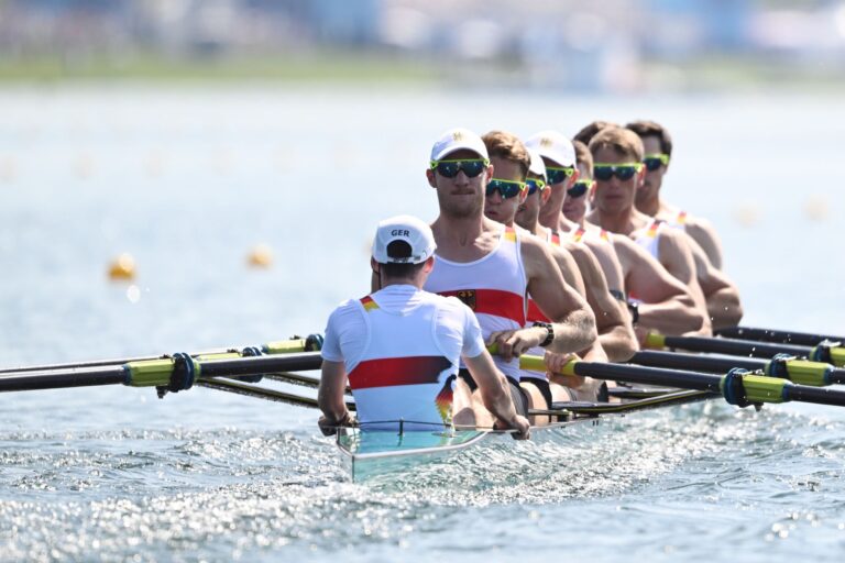
[[[627,305],[611,295],[601,265],[589,249],[573,244],[570,250],[586,288],[586,302],[595,314],[601,347],[612,362],[630,360],[639,345]]]

